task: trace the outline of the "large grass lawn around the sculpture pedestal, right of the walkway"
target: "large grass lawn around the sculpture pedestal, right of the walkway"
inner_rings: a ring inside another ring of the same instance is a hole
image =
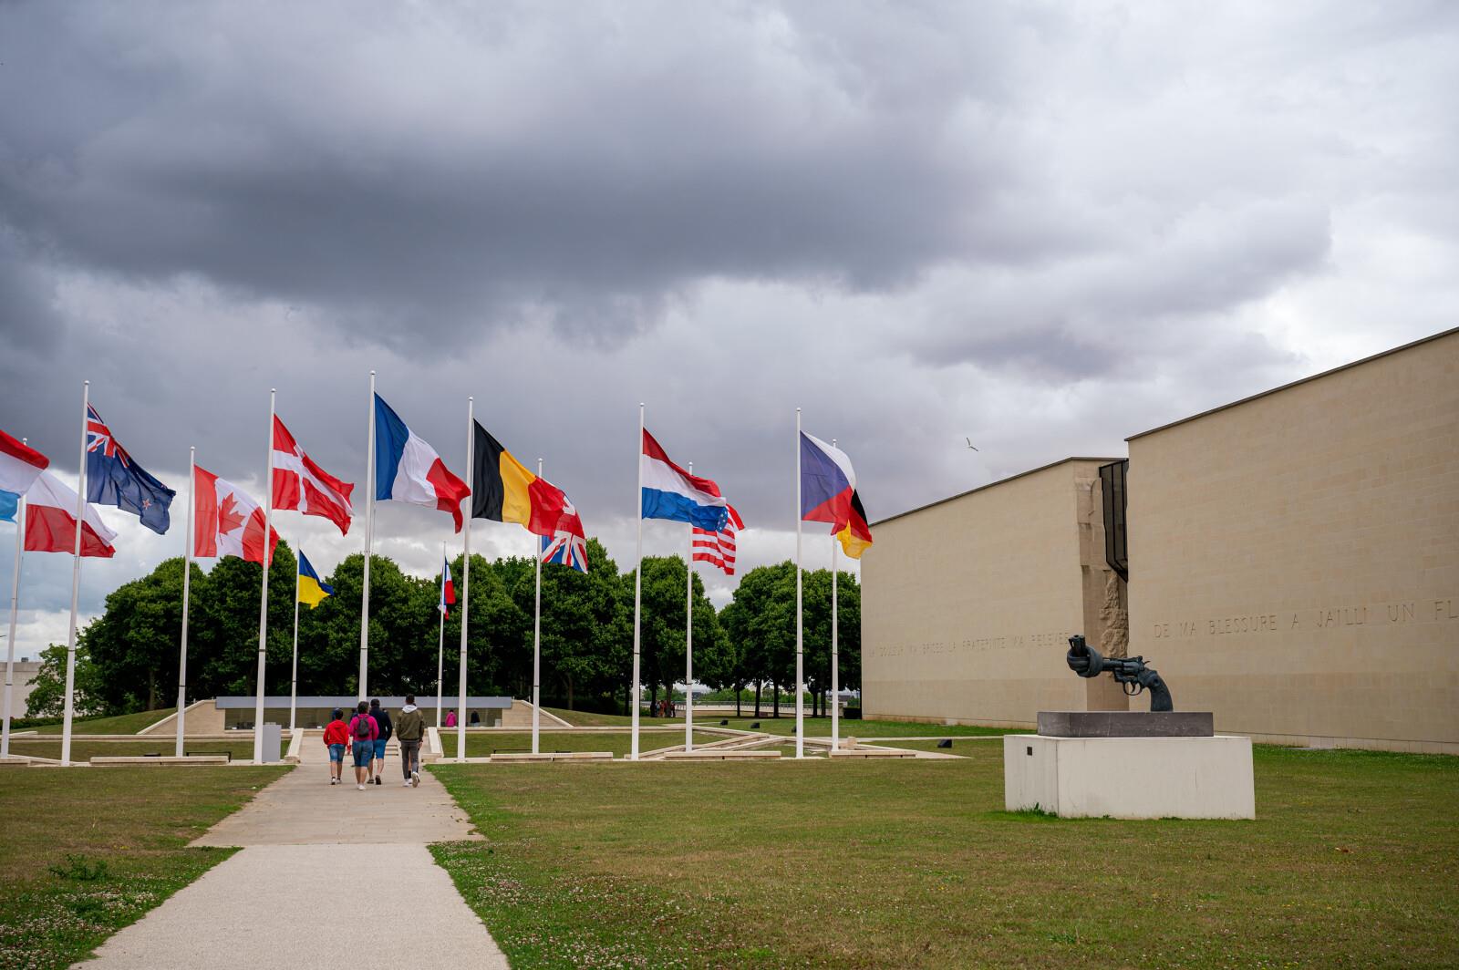
[[[1459,758],[1259,747],[1255,821],[1116,821],[954,751],[436,766],[487,842],[433,852],[514,967],[1459,966]]]

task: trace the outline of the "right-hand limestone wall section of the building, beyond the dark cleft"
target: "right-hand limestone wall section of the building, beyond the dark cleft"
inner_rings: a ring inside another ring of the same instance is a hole
[[[1132,438],[1129,562],[1177,709],[1459,753],[1459,331]]]

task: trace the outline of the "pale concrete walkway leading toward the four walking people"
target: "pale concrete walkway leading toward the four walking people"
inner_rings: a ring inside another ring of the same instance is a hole
[[[404,788],[390,757],[385,783],[362,792],[330,785],[325,761],[309,732],[299,767],[193,843],[244,850],[77,967],[505,970],[496,941],[426,850],[480,839],[441,783],[422,775],[420,788]],[[362,882],[365,912],[353,903]]]

